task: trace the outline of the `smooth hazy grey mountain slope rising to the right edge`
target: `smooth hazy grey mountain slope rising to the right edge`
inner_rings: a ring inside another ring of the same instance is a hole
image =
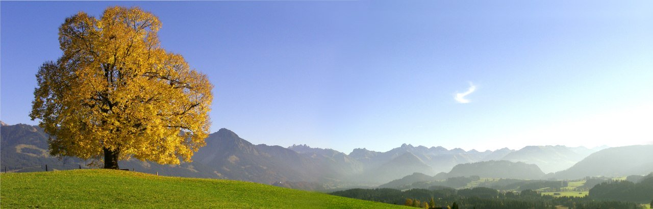
[[[592,153],[573,167],[556,172],[553,176],[572,180],[585,176],[628,176],[650,172],[653,172],[653,145],[633,145]]]

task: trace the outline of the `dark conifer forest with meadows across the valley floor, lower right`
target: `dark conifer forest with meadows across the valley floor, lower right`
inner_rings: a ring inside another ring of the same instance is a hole
[[[435,186],[429,189],[348,189],[331,193],[342,197],[423,207],[456,208],[640,208],[637,203],[653,203],[653,174],[637,183],[609,181],[597,184],[585,197],[553,197],[525,189],[500,192],[487,187],[453,189]],[[431,201],[433,199],[433,201]],[[422,202],[422,204],[415,204]],[[636,203],[637,202],[637,203]]]

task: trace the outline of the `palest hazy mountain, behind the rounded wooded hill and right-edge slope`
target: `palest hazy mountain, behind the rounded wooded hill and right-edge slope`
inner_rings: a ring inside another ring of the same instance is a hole
[[[556,172],[568,169],[578,161],[595,152],[584,147],[567,146],[526,146],[521,150],[507,153],[502,160],[524,162],[537,165],[543,172]]]

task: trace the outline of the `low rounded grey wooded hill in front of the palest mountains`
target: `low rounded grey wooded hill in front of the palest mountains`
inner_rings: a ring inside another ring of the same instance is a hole
[[[480,176],[481,178],[540,179],[544,172],[534,164],[511,161],[482,161],[456,165],[447,177]]]

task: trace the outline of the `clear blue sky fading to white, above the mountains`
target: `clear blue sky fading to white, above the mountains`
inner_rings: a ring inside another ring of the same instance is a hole
[[[653,1],[0,3],[0,120],[82,10],[138,6],[215,85],[212,131],[349,153],[653,142]]]

